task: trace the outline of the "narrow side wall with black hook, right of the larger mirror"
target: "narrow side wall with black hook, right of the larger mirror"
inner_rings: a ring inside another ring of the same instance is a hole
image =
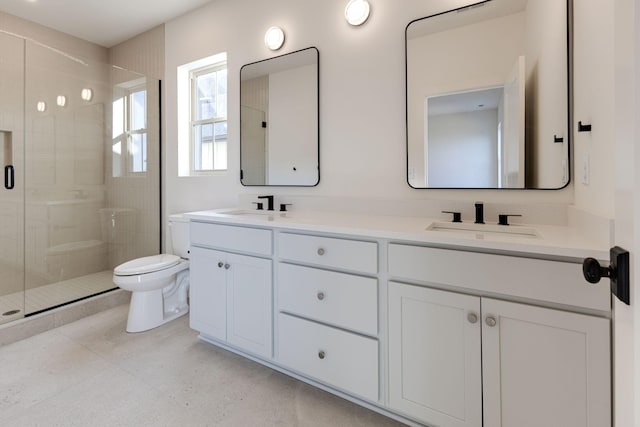
[[[596,215],[614,216],[615,125],[615,3],[574,2],[574,157],[575,204]],[[576,131],[578,121],[591,132]],[[583,159],[589,182],[582,183]]]

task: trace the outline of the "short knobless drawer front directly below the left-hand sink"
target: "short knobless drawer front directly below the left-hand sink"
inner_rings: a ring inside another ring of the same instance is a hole
[[[271,255],[272,232],[261,228],[236,227],[191,221],[190,238],[194,246]]]

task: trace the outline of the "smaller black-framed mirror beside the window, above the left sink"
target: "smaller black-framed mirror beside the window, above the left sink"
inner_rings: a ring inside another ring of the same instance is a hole
[[[240,69],[240,181],[314,186],[320,180],[318,49]]]

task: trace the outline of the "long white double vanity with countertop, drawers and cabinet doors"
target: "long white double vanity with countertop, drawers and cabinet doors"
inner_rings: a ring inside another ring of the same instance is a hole
[[[187,216],[204,341],[405,423],[611,425],[608,253],[567,227]]]

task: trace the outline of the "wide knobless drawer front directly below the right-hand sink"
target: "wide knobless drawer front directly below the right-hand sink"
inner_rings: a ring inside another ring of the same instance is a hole
[[[389,276],[611,310],[608,281],[587,283],[582,265],[568,262],[390,244]]]

